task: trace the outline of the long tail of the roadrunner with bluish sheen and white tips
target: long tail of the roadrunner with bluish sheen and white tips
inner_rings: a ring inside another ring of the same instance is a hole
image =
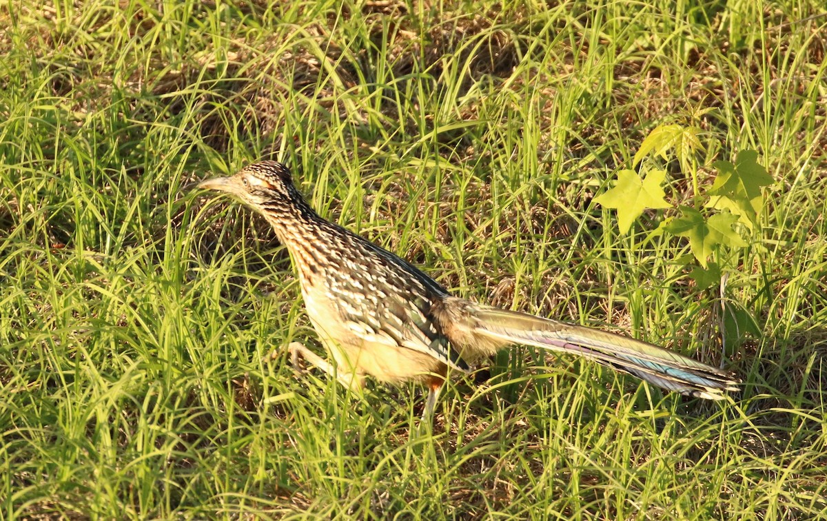
[[[491,346],[519,343],[574,353],[696,398],[723,399],[724,391],[739,390],[739,380],[724,371],[648,342],[479,304],[470,314],[471,337]]]

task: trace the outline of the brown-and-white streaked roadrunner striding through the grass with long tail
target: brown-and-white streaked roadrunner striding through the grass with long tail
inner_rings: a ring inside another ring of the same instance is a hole
[[[293,258],[308,316],[335,365],[293,342],[299,356],[347,387],[367,375],[428,385],[433,413],[447,371],[469,366],[510,344],[585,356],[653,385],[705,399],[738,390],[724,371],[647,342],[476,304],[448,294],[408,261],[328,222],[310,208],[275,161],[249,165],[199,188],[232,194],[261,213]]]

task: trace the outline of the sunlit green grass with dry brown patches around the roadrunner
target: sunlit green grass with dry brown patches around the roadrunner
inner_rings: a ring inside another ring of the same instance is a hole
[[[824,515],[820,2],[340,3],[0,6],[0,517]],[[591,202],[664,122],[776,180],[723,294],[648,240],[671,210],[621,237]],[[428,428],[413,385],[264,362],[315,342],[289,257],[183,189],[260,158],[456,294],[722,361],[743,392],[515,347]]]

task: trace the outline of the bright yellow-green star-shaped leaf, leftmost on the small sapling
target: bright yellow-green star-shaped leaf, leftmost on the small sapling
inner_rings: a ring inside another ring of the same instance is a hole
[[[617,209],[618,227],[620,233],[625,235],[632,227],[632,222],[646,208],[672,208],[672,204],[663,198],[661,188],[666,175],[663,170],[652,170],[646,174],[646,179],[641,179],[634,170],[620,170],[614,188],[597,196],[595,203]]]

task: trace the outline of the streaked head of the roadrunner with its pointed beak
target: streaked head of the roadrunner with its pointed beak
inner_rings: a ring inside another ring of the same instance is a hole
[[[290,179],[290,170],[276,161],[247,165],[230,177],[216,177],[198,183],[198,188],[235,195],[259,211],[304,204]]]

